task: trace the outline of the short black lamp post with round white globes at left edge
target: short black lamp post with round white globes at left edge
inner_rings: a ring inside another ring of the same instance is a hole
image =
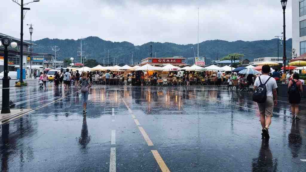
[[[9,50],[7,47],[11,45],[12,48],[17,47],[16,42],[11,42],[11,40],[8,37],[1,38],[0,46],[1,44],[4,46],[4,75],[2,78],[2,109],[1,114],[8,114],[11,113],[9,109],[9,70],[8,70],[8,54]]]

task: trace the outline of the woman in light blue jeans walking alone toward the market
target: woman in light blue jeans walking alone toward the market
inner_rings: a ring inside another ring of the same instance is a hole
[[[88,91],[91,87],[89,78],[87,77],[87,72],[83,72],[80,79],[81,94],[83,100],[83,114],[86,114]]]

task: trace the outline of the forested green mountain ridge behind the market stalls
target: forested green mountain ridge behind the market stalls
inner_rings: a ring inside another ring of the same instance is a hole
[[[277,57],[277,41],[280,39],[271,40],[258,40],[258,41],[224,41],[224,40],[208,40],[201,42],[199,44],[199,54],[200,56],[205,55],[208,59],[208,63],[211,60],[220,59],[227,54],[231,53],[241,53],[244,54],[244,58],[252,61],[254,58],[258,57]],[[37,44],[34,47],[34,52],[38,53],[51,53],[53,46],[58,46],[60,51],[58,51],[58,59],[65,59],[73,57],[79,62],[80,56],[78,52],[80,51],[80,39],[41,39],[34,41]],[[173,56],[183,56],[185,58],[194,57],[194,51],[197,53],[197,44],[187,44],[180,45],[175,43],[155,43],[149,42],[140,46],[134,46],[134,44],[129,42],[111,42],[100,39],[99,37],[90,36],[88,38],[82,39],[82,51],[87,59],[95,59],[101,64],[103,64],[103,59],[105,64],[107,64],[108,50],[109,50],[109,62],[113,64],[130,64],[133,54],[133,62],[141,62],[141,59],[150,56],[150,45],[152,45],[152,56],[155,57],[155,52],[157,57],[173,57]],[[193,48],[192,48],[193,47]],[[279,57],[282,57],[282,46],[279,46]],[[292,39],[286,41],[286,52],[287,57],[291,58],[292,50]]]

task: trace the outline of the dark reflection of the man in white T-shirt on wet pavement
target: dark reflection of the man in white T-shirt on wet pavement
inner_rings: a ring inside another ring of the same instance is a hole
[[[262,172],[262,171],[277,171],[277,159],[273,162],[272,152],[269,148],[269,143],[262,141],[259,150],[259,156],[253,159],[252,162],[252,172]]]

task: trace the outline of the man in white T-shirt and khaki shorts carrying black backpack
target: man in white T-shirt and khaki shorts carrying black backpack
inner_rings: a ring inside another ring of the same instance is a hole
[[[254,83],[253,101],[257,102],[262,126],[262,139],[269,139],[269,126],[273,116],[273,108],[277,105],[277,84],[273,77],[269,76],[270,66],[263,65],[260,77]]]

